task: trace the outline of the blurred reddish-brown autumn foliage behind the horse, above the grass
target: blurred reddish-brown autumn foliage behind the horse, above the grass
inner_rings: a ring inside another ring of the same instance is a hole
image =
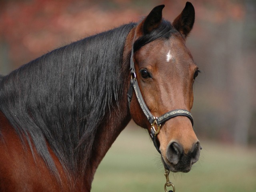
[[[202,71],[194,90],[195,128],[203,138],[256,144],[256,3],[191,2],[196,21],[187,44]],[[136,22],[159,4],[165,4],[163,15],[172,20],[185,3],[186,0],[0,1],[0,73],[6,74],[72,41]]]

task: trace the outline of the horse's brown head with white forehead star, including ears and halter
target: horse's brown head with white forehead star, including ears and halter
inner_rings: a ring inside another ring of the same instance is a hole
[[[171,24],[162,19],[163,8],[155,7],[134,29],[130,114],[155,138],[167,170],[189,172],[201,149],[190,114],[199,70],[185,45],[195,12],[187,2]]]

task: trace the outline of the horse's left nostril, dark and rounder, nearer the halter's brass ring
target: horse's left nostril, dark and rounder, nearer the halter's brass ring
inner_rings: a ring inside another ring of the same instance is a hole
[[[182,155],[182,153],[183,153],[182,146],[176,142],[172,142],[168,146],[168,150],[166,152],[166,158],[170,163],[173,163],[174,165],[176,165],[179,162],[180,156]]]

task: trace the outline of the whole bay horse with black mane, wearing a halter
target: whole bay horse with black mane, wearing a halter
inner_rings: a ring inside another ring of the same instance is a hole
[[[195,12],[187,2],[170,23],[163,8],[0,76],[1,192],[89,192],[131,118],[167,170],[190,171],[201,149],[190,114],[199,70],[185,45]]]

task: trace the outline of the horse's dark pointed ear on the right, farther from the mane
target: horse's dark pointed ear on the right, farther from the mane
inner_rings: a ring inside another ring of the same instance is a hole
[[[186,36],[192,30],[195,21],[195,10],[194,6],[190,2],[186,2],[186,6],[181,12],[181,14],[176,17],[172,25],[181,33]]]

